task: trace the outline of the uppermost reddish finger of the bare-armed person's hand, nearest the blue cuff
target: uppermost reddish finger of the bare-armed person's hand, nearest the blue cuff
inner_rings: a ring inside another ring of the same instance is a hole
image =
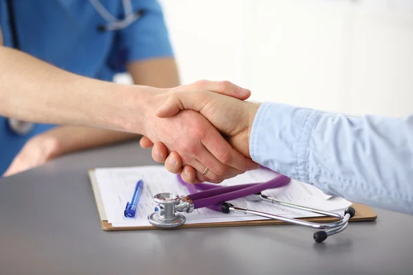
[[[218,161],[227,166],[231,166],[240,171],[249,171],[260,168],[260,165],[253,162],[252,159],[244,157],[242,153],[236,151],[232,146],[226,142],[224,137],[218,131],[208,131],[207,135],[202,138],[207,151],[218,159]],[[200,159],[202,163],[202,161]]]

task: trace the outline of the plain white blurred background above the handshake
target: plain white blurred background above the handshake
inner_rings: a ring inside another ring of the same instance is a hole
[[[253,100],[354,115],[413,109],[413,1],[160,3],[182,84],[231,80]]]

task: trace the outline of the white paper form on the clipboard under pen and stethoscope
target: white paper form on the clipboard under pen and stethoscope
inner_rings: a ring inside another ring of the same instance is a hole
[[[150,225],[147,216],[153,213],[156,203],[153,196],[160,192],[173,192],[177,195],[187,195],[188,190],[180,184],[176,175],[169,173],[163,166],[140,166],[136,168],[98,168],[95,170],[98,187],[102,196],[103,206],[107,214],[107,220],[114,227]],[[238,175],[233,179],[222,182],[222,186],[236,184],[249,184],[264,182],[272,179],[277,174],[269,170],[253,170]],[[142,179],[144,188],[138,201],[136,217],[125,218],[123,211],[127,201],[131,200],[136,187],[136,182]],[[319,189],[303,184],[299,181],[291,181],[282,188],[263,191],[263,194],[275,197],[281,201],[295,203],[300,206],[330,210],[332,212],[343,212],[343,209],[351,203],[341,198],[326,200]],[[277,206],[275,203],[266,201],[248,201],[247,199],[236,199],[230,201],[235,206],[246,207],[261,212],[282,215],[284,217],[315,217],[317,214],[303,212],[293,208]],[[187,223],[211,223],[225,221],[248,221],[265,219],[252,214],[230,213],[224,214],[208,208],[194,210],[186,214]]]

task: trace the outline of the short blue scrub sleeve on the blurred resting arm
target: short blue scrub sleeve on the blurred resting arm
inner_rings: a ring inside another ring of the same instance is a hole
[[[173,56],[160,3],[156,0],[132,3],[134,12],[140,10],[142,15],[120,31],[120,47],[126,50],[126,62]]]

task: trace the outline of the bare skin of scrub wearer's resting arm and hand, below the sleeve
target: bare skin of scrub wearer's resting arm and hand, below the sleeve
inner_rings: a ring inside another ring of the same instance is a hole
[[[173,58],[158,58],[130,63],[128,71],[137,85],[160,88],[179,85],[178,70]],[[32,137],[14,157],[4,176],[45,164],[50,159],[66,153],[133,140],[138,137],[140,135],[120,131],[84,126],[59,126]]]

